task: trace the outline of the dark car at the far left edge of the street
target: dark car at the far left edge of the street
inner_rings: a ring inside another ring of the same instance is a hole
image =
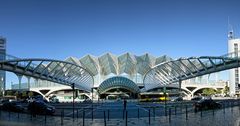
[[[24,111],[24,107],[22,106],[21,102],[19,102],[19,101],[4,102],[1,105],[1,109],[6,110],[6,111],[13,111],[13,112],[23,112]]]

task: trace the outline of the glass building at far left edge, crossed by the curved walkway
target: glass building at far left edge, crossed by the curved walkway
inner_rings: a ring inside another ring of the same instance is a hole
[[[0,37],[0,61],[5,60],[6,55],[6,39],[3,37]],[[6,72],[0,70],[0,92],[2,95],[5,91],[6,87]]]

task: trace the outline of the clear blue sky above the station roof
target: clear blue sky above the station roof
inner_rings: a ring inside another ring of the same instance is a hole
[[[0,5],[7,53],[22,58],[222,55],[228,17],[240,35],[239,0],[0,0]]]

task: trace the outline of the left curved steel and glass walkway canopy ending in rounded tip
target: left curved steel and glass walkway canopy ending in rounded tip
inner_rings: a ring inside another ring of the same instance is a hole
[[[92,74],[82,66],[67,61],[52,59],[19,59],[10,55],[0,61],[0,69],[33,78],[48,80],[63,85],[91,91]]]

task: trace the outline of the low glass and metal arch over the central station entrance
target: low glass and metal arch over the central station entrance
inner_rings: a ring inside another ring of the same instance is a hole
[[[133,93],[140,92],[139,87],[133,81],[125,77],[116,76],[103,81],[98,88],[98,93],[103,94],[106,91],[115,88],[124,88],[132,91]]]

